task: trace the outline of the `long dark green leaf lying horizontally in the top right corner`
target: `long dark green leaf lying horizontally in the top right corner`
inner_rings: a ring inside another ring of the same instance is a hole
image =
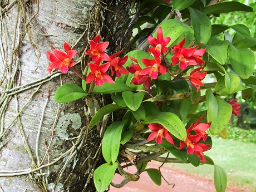
[[[253,8],[239,2],[224,2],[224,3],[213,4],[204,9],[205,14],[230,13],[233,11],[253,12]]]

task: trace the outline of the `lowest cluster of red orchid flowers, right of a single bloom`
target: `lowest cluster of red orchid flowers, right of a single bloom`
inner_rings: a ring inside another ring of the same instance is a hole
[[[206,163],[205,157],[204,157],[204,151],[207,151],[210,149],[209,144],[204,144],[200,141],[206,141],[207,134],[206,130],[209,129],[211,122],[208,122],[208,124],[205,123],[199,123],[201,119],[203,119],[204,116],[200,117],[195,124],[191,124],[189,129],[186,130],[188,136],[186,138],[186,141],[180,141],[180,147],[179,149],[183,149],[183,147],[186,145],[186,149],[188,151],[188,154],[195,154],[199,156],[200,161],[203,161]],[[195,135],[191,135],[191,131],[195,132]]]

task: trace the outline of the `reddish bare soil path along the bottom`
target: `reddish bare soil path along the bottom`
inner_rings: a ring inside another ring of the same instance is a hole
[[[147,165],[147,168],[155,168],[158,169],[160,164],[151,162]],[[162,178],[161,186],[156,185],[147,175],[147,173],[143,172],[140,175],[139,181],[130,181],[124,187],[118,189],[110,186],[110,192],[159,192],[170,191],[170,192],[216,192],[214,187],[214,181],[210,179],[206,179],[203,176],[192,175],[186,173],[186,171],[169,167],[162,166],[161,173],[164,176],[165,180],[169,182],[165,182]],[[128,170],[127,170],[128,171]],[[135,173],[136,169],[129,168],[130,173]],[[119,184],[124,178],[121,175],[116,174],[114,176],[113,183]],[[237,189],[232,186],[228,186],[226,192],[252,192],[245,189]]]

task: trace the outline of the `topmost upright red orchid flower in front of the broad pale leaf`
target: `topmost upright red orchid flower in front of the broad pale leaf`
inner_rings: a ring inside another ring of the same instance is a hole
[[[169,1],[170,2],[170,1]],[[149,42],[150,45],[152,45],[157,53],[161,55],[161,53],[165,53],[167,51],[166,45],[171,41],[170,37],[165,37],[163,38],[163,30],[161,27],[157,30],[157,35],[155,37],[147,37],[147,41]],[[147,50],[150,51],[150,50]]]

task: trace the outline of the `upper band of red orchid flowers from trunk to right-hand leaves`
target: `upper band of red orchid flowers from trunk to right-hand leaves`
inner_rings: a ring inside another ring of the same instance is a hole
[[[170,42],[170,37],[163,37],[163,31],[161,27],[157,31],[157,36],[155,37],[147,37],[147,41],[151,45],[147,51],[151,52],[151,55],[154,56],[153,59],[142,58],[141,62],[144,63],[146,68],[141,68],[135,58],[130,57],[132,65],[130,67],[123,67],[126,63],[128,56],[123,58],[116,57],[122,51],[114,53],[109,56],[105,53],[109,42],[100,42],[101,36],[96,36],[93,40],[90,40],[90,49],[86,51],[87,55],[90,55],[92,62],[88,63],[88,67],[90,67],[91,72],[88,74],[86,78],[86,83],[90,83],[95,81],[96,86],[103,85],[104,82],[114,83],[111,76],[116,74],[116,77],[120,77],[121,74],[129,75],[130,73],[134,73],[134,77],[131,80],[131,83],[135,85],[143,84],[147,91],[150,90],[151,87],[151,79],[155,80],[159,73],[165,74],[167,69],[164,65],[161,65],[161,58],[164,57],[164,53],[168,51],[166,47]],[[190,73],[189,80],[191,85],[196,87],[197,91],[199,91],[200,86],[204,85],[201,80],[206,76],[206,72],[201,72],[204,66],[204,60],[201,59],[201,56],[205,53],[205,49],[196,49],[198,47],[183,47],[185,43],[185,39],[179,43],[179,45],[174,45],[173,57],[171,60],[173,61],[172,65],[176,65],[179,63],[180,70],[186,69],[188,65],[200,65],[199,68],[196,68]],[[71,50],[70,46],[67,42],[64,43],[64,48],[66,53],[53,49],[53,53],[47,51],[47,58],[51,61],[47,70],[51,73],[51,71],[55,68],[59,68],[62,73],[67,73],[68,68],[74,66],[75,61],[72,58],[76,55],[76,50]],[[170,51],[170,50],[169,50]],[[105,61],[105,63],[103,63]],[[171,65],[170,65],[171,66]],[[107,74],[107,70],[111,70],[111,76]]]

